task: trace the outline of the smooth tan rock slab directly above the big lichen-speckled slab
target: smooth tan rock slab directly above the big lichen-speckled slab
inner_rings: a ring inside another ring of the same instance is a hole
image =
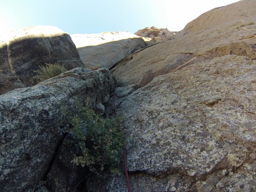
[[[156,76],[214,57],[232,54],[255,60],[255,24],[237,28],[239,23],[240,21],[234,21],[226,26],[223,24],[153,44],[135,52],[132,60],[125,65],[117,65],[111,71],[128,84],[144,86]]]

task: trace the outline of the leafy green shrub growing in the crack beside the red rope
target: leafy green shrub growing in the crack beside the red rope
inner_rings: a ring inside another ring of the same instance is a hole
[[[92,172],[110,169],[113,173],[119,173],[117,166],[123,148],[120,118],[104,119],[89,108],[89,100],[85,107],[79,103],[77,115],[67,121],[70,125],[68,132],[73,134],[77,147],[82,150],[82,155],[75,155],[73,162],[83,167],[89,166]],[[66,113],[65,116],[70,114]]]

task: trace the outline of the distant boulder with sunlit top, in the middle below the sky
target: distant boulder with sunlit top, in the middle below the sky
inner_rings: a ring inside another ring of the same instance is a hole
[[[111,68],[132,52],[146,47],[144,40],[129,32],[71,35],[86,67],[103,65]]]

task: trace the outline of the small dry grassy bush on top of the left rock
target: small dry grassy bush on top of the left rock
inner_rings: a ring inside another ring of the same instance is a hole
[[[67,71],[67,69],[63,65],[60,65],[59,63],[55,63],[55,64],[45,63],[45,64],[46,64],[45,67],[39,66],[40,69],[35,71],[38,73],[38,75],[34,76],[34,78],[38,79],[39,82],[44,81],[46,79],[50,79],[52,77],[55,77]]]

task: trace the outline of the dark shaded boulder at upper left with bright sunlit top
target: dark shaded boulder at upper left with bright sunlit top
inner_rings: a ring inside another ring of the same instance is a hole
[[[84,66],[70,36],[56,27],[19,29],[0,39],[0,94],[35,85],[34,70],[45,63],[61,63],[67,69]]]

